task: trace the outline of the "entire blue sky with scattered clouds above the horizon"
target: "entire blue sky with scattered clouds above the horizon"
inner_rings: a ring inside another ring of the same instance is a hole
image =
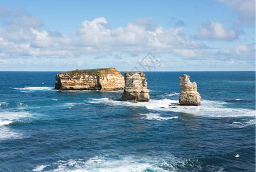
[[[0,0],[0,71],[106,67],[255,71],[255,0]]]

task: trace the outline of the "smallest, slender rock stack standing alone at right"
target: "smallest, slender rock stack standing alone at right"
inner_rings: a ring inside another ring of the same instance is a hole
[[[187,74],[179,77],[179,84],[182,89],[179,95],[179,104],[199,105],[201,97],[197,92],[197,83],[191,83],[189,79],[190,76]]]

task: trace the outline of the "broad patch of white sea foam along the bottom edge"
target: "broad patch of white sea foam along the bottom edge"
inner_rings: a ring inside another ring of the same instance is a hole
[[[116,156],[115,156],[116,157]],[[118,158],[92,157],[88,160],[69,159],[68,161],[58,161],[52,165],[39,165],[33,171],[176,171],[178,169],[194,167],[201,169],[197,160],[180,159],[173,156],[148,158],[123,156]],[[47,170],[52,169],[53,170]]]

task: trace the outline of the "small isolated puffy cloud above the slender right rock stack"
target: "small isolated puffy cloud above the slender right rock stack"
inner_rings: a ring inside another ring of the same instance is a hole
[[[197,29],[199,40],[234,40],[237,37],[235,30],[225,29],[220,22],[207,21]]]

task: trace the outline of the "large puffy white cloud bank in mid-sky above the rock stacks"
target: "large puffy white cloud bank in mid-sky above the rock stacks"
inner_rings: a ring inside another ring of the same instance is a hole
[[[82,22],[74,34],[79,44],[93,52],[119,51],[124,53],[172,52],[172,48],[200,48],[196,42],[187,40],[181,27],[164,30],[148,19],[136,19],[126,27],[111,29],[106,18]]]

